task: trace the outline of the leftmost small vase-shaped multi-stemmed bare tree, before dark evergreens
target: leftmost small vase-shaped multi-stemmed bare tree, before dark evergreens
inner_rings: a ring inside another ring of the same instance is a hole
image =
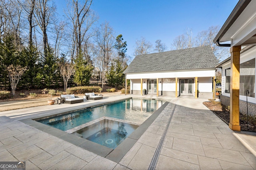
[[[20,65],[14,66],[13,64],[11,64],[7,67],[7,71],[10,78],[12,95],[14,96],[17,84],[20,81],[20,77],[22,76],[22,74],[26,71],[26,67],[22,67]]]

